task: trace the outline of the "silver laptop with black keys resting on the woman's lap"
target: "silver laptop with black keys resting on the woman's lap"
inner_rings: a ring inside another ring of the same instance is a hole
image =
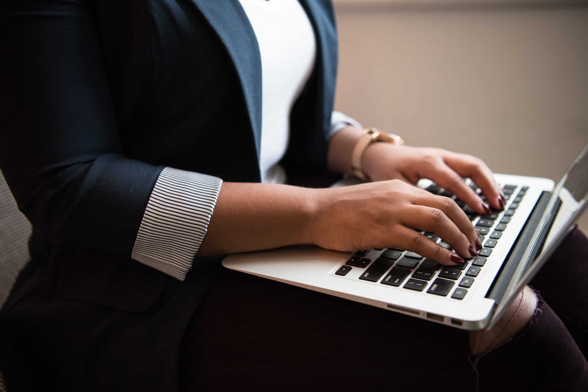
[[[561,180],[495,174],[504,211],[477,215],[429,180],[420,188],[452,197],[475,225],[483,248],[475,258],[443,266],[402,249],[338,252],[314,245],[229,255],[235,271],[316,290],[436,323],[490,327],[565,238],[588,204],[588,144]],[[359,183],[352,178],[333,187]],[[469,179],[466,183],[480,193]],[[435,234],[430,239],[449,247]]]

